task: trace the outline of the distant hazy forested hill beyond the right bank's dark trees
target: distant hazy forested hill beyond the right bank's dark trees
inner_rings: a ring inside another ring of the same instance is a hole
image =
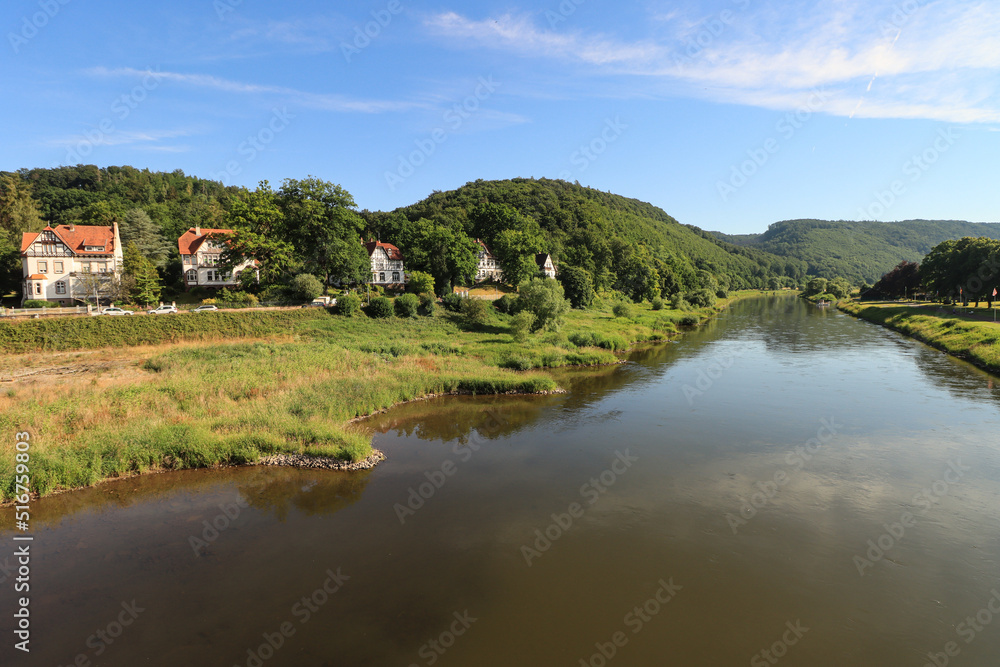
[[[1000,239],[1000,223],[785,220],[763,234],[713,234],[745,248],[803,260],[810,275],[873,283],[903,260],[919,262],[942,241],[964,236]]]

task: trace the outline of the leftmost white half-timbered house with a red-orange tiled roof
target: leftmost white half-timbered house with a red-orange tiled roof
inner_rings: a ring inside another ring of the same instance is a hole
[[[84,277],[97,274],[114,280],[121,276],[122,242],[118,223],[110,227],[57,225],[21,236],[24,275],[22,301],[58,301],[68,306],[89,289]]]

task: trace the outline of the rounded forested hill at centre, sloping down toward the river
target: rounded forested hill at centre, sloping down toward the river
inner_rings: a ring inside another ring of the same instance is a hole
[[[638,264],[657,272],[666,293],[700,287],[705,272],[729,288],[766,287],[772,277],[796,284],[805,275],[804,262],[720,241],[652,204],[560,180],[478,180],[394,213],[463,229],[475,238],[482,236],[474,218],[483,204],[510,207],[537,221],[545,250],[561,266],[586,268],[598,284],[602,272],[621,277]]]

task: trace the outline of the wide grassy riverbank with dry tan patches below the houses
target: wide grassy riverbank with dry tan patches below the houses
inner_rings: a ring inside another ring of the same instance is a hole
[[[2,499],[14,495],[17,432],[31,434],[31,488],[41,494],[274,453],[357,461],[371,445],[355,417],[433,394],[555,391],[546,369],[614,363],[613,351],[666,339],[733,299],[699,311],[635,305],[626,318],[610,304],[571,311],[560,332],[524,343],[507,316],[468,329],[441,309],[386,320],[303,309],[19,323],[46,328],[38,347],[63,351],[16,355],[30,348],[24,332],[0,339],[10,346],[0,361]],[[230,332],[245,339],[224,340]],[[159,344],[119,347],[133,341]]]

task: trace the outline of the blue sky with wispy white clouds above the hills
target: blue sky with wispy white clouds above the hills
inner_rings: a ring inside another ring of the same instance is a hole
[[[549,177],[729,233],[1000,220],[993,0],[6,0],[0,169]]]

